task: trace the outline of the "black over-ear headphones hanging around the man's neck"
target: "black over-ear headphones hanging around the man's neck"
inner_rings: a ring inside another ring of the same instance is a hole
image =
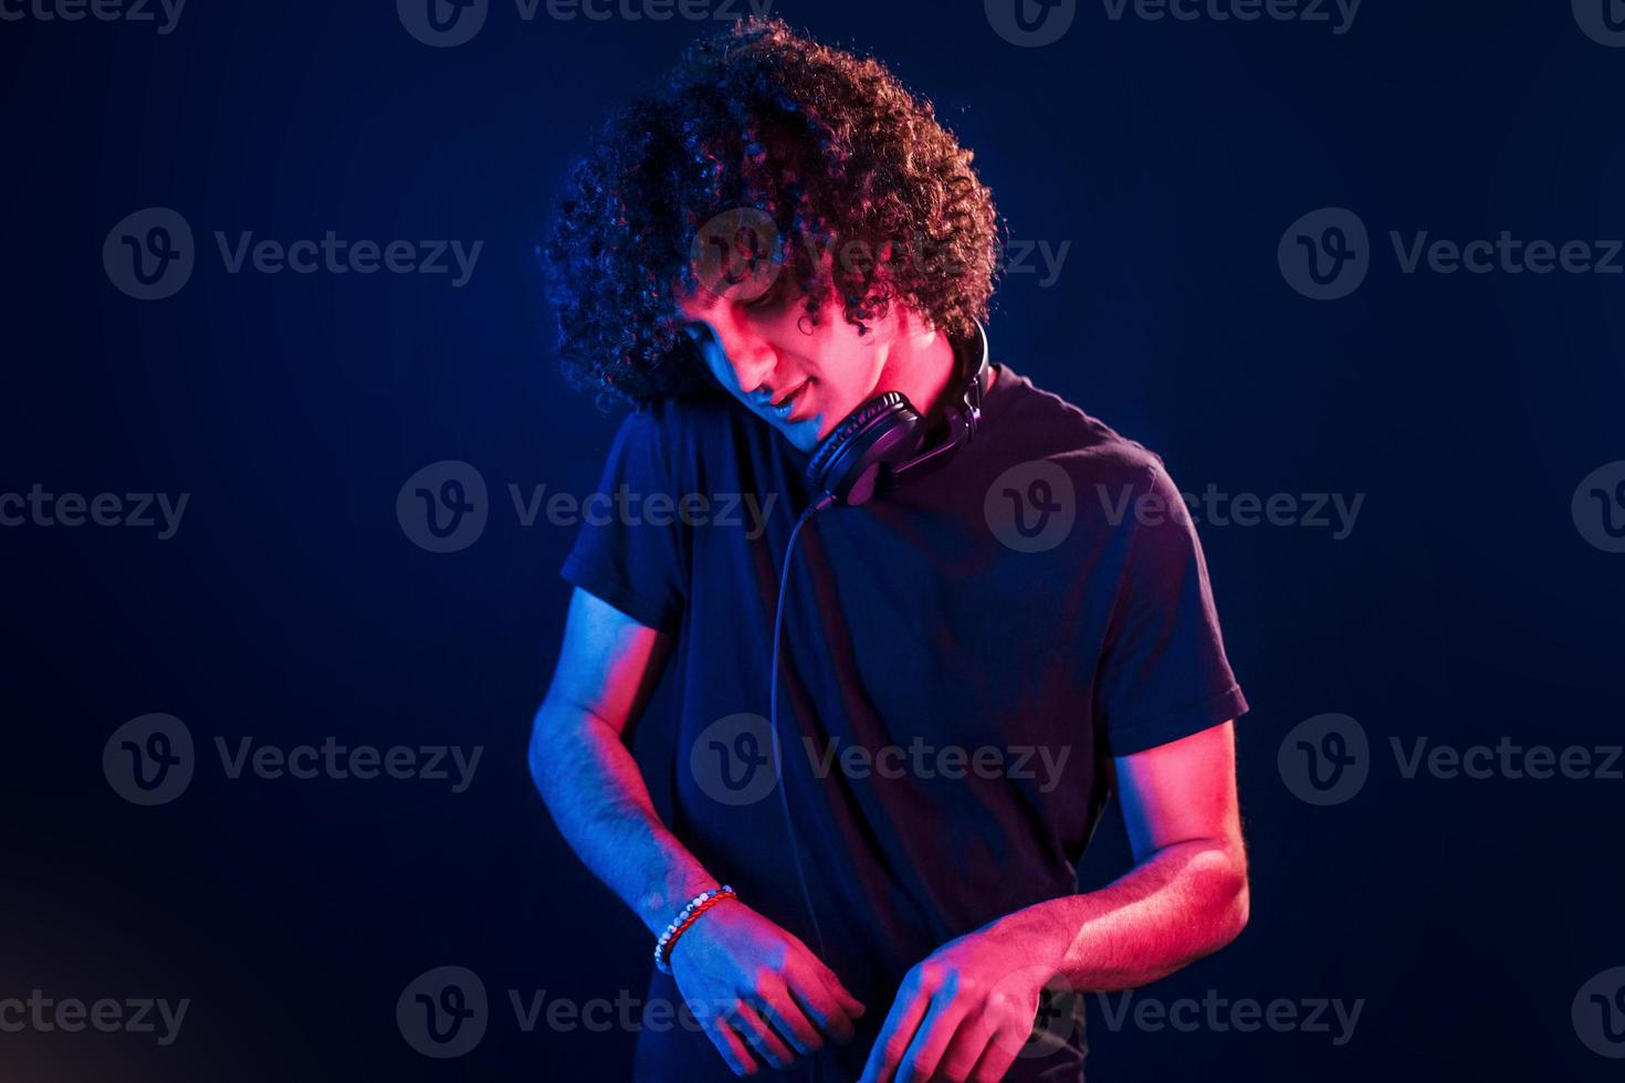
[[[902,391],[876,395],[835,425],[808,463],[808,482],[822,494],[821,507],[868,503],[882,484],[970,443],[982,424],[982,391],[988,383],[988,333],[954,346],[954,378],[960,393],[947,403],[947,437],[930,448],[925,417]]]

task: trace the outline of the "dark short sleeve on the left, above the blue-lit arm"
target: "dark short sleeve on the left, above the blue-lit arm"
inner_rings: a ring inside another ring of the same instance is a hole
[[[660,419],[634,411],[621,422],[596,492],[580,503],[580,533],[559,575],[648,628],[671,632],[687,596],[681,516],[656,515],[652,495],[676,505]]]

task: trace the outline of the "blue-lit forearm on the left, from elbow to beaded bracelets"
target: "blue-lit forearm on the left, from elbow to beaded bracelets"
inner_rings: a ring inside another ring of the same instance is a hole
[[[590,711],[551,698],[541,705],[530,773],[570,848],[650,932],[718,887],[660,822],[621,734]]]

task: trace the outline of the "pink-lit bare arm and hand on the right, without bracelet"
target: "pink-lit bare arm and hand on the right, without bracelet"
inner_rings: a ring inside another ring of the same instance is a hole
[[[1138,862],[951,940],[902,982],[863,1083],[999,1080],[1032,1029],[1040,989],[1133,989],[1217,951],[1246,926],[1246,852],[1225,723],[1116,760]]]

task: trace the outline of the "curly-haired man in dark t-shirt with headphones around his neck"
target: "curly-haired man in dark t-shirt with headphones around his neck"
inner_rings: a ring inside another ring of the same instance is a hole
[[[637,406],[603,492],[665,513],[582,529],[531,771],[661,937],[650,1002],[700,1018],[645,1026],[639,1080],[1079,1080],[1081,992],[1246,922],[1246,703],[1190,518],[1008,365],[972,386],[998,248],[931,106],[778,21],[694,45],[559,205],[567,372]],[[809,460],[887,391],[910,448],[954,448],[819,510],[786,565]],[[671,823],[629,752],[661,675]],[[1138,865],[1079,893],[1112,789]]]

